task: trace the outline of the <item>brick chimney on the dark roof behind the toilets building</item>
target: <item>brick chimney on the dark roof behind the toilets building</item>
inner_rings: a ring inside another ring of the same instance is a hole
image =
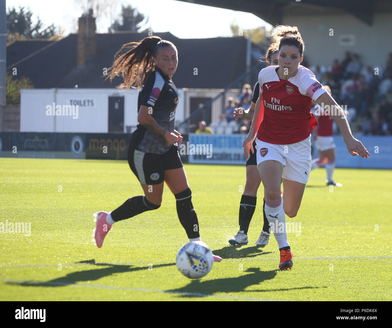
[[[76,63],[78,67],[83,67],[95,55],[95,17],[93,9],[89,9],[88,14],[79,17],[78,31],[78,51]]]

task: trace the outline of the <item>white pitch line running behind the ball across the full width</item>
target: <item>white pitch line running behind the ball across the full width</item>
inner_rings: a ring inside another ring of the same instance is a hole
[[[352,260],[352,259],[370,259],[370,258],[392,258],[392,256],[339,256],[339,257],[334,257],[334,258],[329,258],[329,257],[316,257],[316,258],[295,258],[294,261],[296,260]],[[223,262],[227,261],[279,261],[279,258],[269,258],[269,259],[263,259],[263,258],[244,258],[244,259],[223,259]],[[107,266],[110,265],[134,265],[134,264],[170,264],[172,263],[171,261],[157,261],[157,262],[119,262],[119,263],[58,263],[58,264],[26,264],[26,265],[15,265],[15,266],[7,266],[7,267],[2,267],[0,266],[0,269],[16,269],[16,268],[33,268],[33,267],[54,267],[58,266],[59,264],[63,266],[68,266],[68,265],[100,265],[100,266]]]

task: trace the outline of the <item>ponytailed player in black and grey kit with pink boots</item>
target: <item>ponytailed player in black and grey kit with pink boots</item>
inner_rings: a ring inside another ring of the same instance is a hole
[[[177,48],[170,41],[150,36],[140,42],[123,45],[110,68],[108,77],[122,75],[122,88],[140,88],[138,126],[128,147],[128,163],[138,178],[144,195],[129,198],[111,213],[95,213],[94,241],[103,239],[115,222],[145,211],[158,209],[162,202],[163,182],[176,198],[180,223],[189,241],[200,241],[199,223],[192,205],[192,193],[178,154],[176,143],[181,134],[174,130],[178,104],[177,88],[172,81],[178,64]],[[214,256],[215,261],[222,260]]]

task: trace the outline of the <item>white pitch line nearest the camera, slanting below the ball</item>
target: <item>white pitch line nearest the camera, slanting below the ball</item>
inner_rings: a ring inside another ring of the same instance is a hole
[[[10,283],[32,284],[32,285],[75,286],[75,287],[89,287],[89,288],[101,288],[101,289],[131,290],[133,292],[178,294],[183,296],[218,297],[218,298],[229,298],[229,299],[242,299],[246,301],[281,301],[279,299],[262,299],[262,298],[251,298],[251,297],[236,297],[230,295],[212,295],[212,294],[201,294],[201,293],[175,292],[174,290],[158,290],[158,289],[154,290],[154,289],[129,288],[129,287],[122,288],[122,287],[100,286],[100,285],[68,284],[68,283],[40,282],[40,281],[28,281],[28,280],[23,281],[23,280],[12,280],[12,279],[0,279],[0,281],[10,282]]]

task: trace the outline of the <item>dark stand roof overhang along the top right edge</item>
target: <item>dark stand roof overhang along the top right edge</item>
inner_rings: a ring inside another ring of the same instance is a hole
[[[178,0],[255,14],[271,25],[281,24],[285,15],[352,14],[372,25],[373,14],[392,11],[390,0]]]

